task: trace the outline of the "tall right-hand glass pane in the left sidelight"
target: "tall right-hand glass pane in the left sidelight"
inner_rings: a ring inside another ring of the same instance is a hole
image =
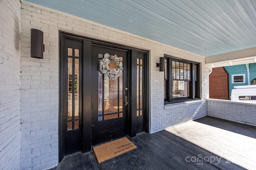
[[[75,74],[74,74],[74,115],[75,119],[79,118],[79,59],[75,59]]]

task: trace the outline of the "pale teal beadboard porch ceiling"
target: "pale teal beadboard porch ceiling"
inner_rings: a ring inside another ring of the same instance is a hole
[[[204,57],[256,47],[256,0],[26,0]]]

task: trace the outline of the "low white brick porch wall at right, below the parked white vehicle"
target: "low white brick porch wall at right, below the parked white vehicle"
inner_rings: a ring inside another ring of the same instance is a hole
[[[207,99],[208,115],[256,126],[256,104]]]

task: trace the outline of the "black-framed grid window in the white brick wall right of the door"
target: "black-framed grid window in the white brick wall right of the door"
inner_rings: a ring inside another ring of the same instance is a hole
[[[177,103],[200,98],[199,64],[165,56],[164,103]]]

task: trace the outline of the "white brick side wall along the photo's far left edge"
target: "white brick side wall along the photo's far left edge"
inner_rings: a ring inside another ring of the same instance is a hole
[[[0,1],[0,170],[20,169],[20,1]]]

